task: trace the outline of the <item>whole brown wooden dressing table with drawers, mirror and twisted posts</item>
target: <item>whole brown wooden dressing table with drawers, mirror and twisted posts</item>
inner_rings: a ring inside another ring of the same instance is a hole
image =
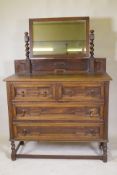
[[[26,59],[6,78],[11,158],[100,159],[107,162],[106,58],[94,57],[89,17],[29,19]],[[15,146],[15,142],[19,144]],[[26,141],[97,142],[99,155],[21,154]]]

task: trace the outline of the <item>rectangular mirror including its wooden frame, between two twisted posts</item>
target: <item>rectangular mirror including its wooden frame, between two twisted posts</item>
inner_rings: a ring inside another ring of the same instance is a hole
[[[88,34],[88,18],[30,19],[31,56],[87,56]]]

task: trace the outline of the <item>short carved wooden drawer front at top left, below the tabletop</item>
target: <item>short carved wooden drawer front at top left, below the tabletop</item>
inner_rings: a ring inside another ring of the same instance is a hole
[[[13,99],[21,101],[53,101],[54,86],[51,83],[13,83]]]

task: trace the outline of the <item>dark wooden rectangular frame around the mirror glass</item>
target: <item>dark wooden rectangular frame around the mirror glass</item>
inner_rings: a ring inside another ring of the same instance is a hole
[[[84,20],[86,21],[86,53],[70,53],[70,54],[49,54],[49,55],[33,55],[33,22],[49,22],[49,21],[71,21]],[[30,18],[29,19],[29,42],[30,42],[30,57],[31,58],[61,58],[61,57],[89,57],[89,17],[61,17],[61,18]]]

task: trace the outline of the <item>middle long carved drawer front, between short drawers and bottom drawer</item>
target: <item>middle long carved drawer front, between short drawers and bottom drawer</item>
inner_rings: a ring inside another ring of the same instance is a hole
[[[16,103],[13,105],[13,116],[16,120],[103,121],[103,105]]]

